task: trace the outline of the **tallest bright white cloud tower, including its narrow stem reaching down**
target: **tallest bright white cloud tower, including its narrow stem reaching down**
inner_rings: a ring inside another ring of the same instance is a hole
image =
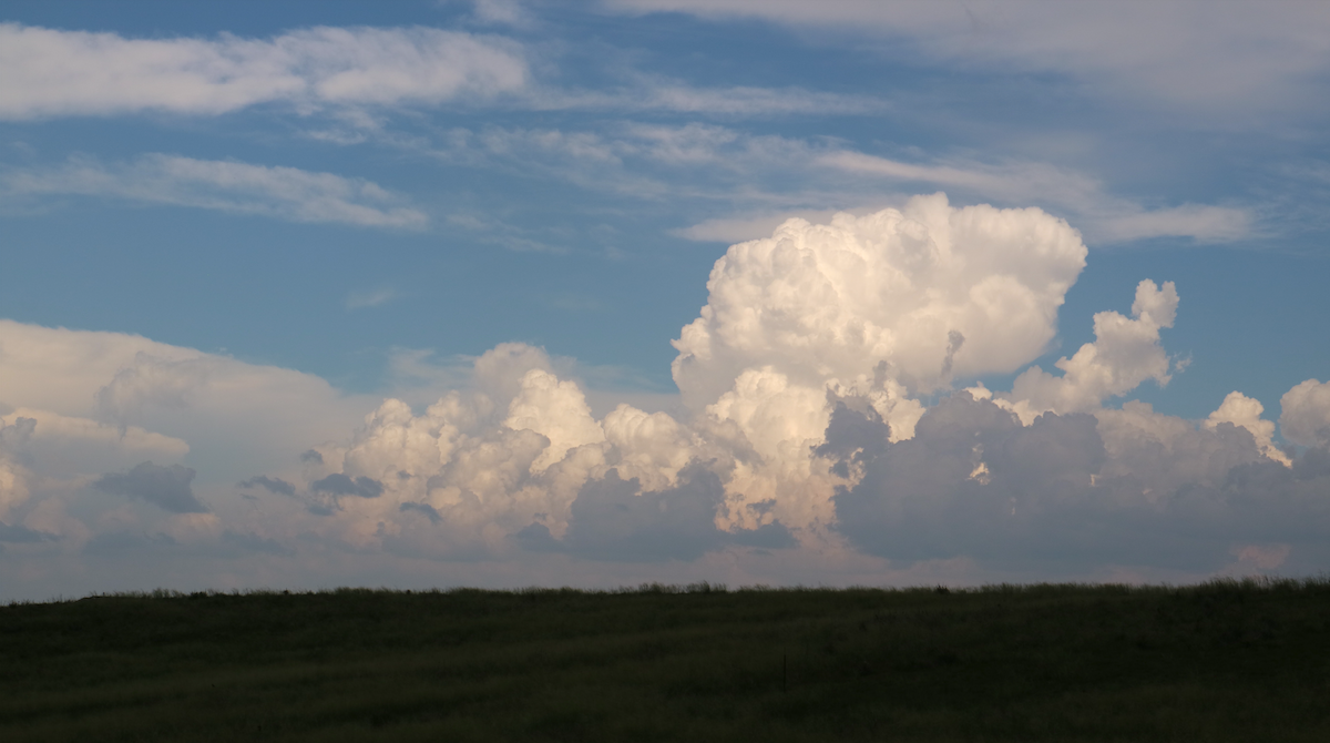
[[[837,478],[809,457],[831,401],[857,401],[908,439],[920,393],[1043,353],[1085,254],[1039,209],[952,208],[944,194],[830,225],[791,220],[732,246],[673,364],[685,403],[741,459],[728,522],[751,529],[767,507],[801,539],[831,538]]]

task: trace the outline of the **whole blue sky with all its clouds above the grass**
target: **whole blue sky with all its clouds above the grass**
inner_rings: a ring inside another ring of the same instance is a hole
[[[0,601],[1330,559],[1330,5],[0,1]]]

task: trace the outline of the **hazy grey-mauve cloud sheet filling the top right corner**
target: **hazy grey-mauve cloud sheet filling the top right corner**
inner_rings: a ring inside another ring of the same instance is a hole
[[[1065,75],[1091,95],[1258,115],[1321,107],[1330,11],[1319,3],[1129,4],[606,0],[626,12],[757,17],[876,37],[884,53],[984,72]]]

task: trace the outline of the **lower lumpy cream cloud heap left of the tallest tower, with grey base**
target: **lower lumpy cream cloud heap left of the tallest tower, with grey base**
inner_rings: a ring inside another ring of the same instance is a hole
[[[597,418],[577,383],[521,344],[476,358],[466,389],[423,411],[384,401],[348,443],[317,454],[303,457],[303,494],[266,475],[242,485],[294,494],[318,517],[306,529],[358,549],[649,562],[793,545],[773,514],[742,527],[722,518],[728,445],[626,403]],[[601,534],[606,525],[617,531]]]

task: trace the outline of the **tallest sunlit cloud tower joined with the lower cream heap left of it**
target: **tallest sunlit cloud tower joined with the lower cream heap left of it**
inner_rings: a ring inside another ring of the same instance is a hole
[[[628,526],[597,509],[625,493],[674,493],[652,498],[666,511],[682,498],[690,513],[714,499],[714,523],[689,522],[693,545],[786,529],[834,538],[842,478],[813,455],[833,398],[859,401],[890,423],[888,438],[908,439],[924,413],[916,394],[1044,350],[1085,253],[1076,230],[1039,209],[952,208],[944,194],[829,225],[787,221],[717,261],[708,305],[674,344],[692,419],[621,405],[597,421],[543,352],[504,344],[476,360],[471,391],[423,415],[387,401],[348,447],[323,450],[319,477],[370,478],[384,497],[311,491],[311,513],[359,514],[402,539],[428,525],[463,551],[501,553],[520,533],[527,546],[548,538],[600,554],[609,547],[588,519]],[[596,485],[606,477],[620,485]],[[641,522],[673,518],[662,513],[642,511],[630,534],[682,534],[678,522]],[[614,542],[616,554],[632,559],[622,550],[636,542]]]

